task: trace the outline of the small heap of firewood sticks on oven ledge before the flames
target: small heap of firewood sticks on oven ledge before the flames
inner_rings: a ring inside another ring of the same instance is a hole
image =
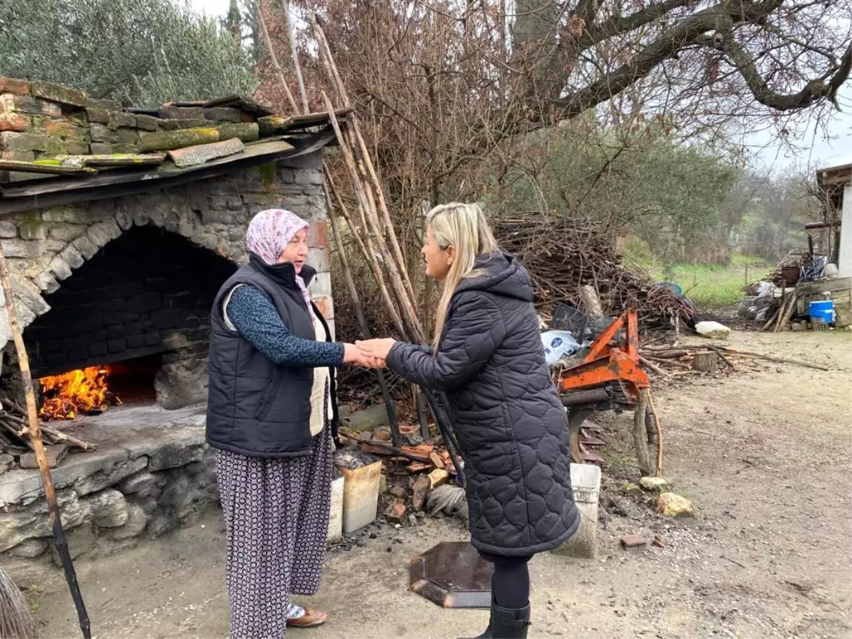
[[[41,424],[41,429],[50,468],[58,466],[67,452],[89,452],[97,448],[95,444],[67,435],[46,423]],[[34,450],[26,410],[9,397],[0,395],[0,454],[9,455],[21,468],[37,468]]]

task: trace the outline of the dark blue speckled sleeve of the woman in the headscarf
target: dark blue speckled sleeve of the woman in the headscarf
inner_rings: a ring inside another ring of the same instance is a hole
[[[262,291],[243,285],[227,302],[227,318],[239,334],[276,364],[283,366],[343,365],[343,344],[316,342],[293,335]]]

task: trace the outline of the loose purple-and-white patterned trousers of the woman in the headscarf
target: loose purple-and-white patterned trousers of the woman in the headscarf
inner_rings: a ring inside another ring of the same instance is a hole
[[[309,457],[218,451],[230,639],[281,639],[290,595],[314,595],[320,588],[333,451],[328,427],[314,437]]]

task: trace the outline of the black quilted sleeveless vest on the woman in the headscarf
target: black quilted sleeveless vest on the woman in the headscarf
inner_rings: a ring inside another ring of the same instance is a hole
[[[310,284],[315,271],[307,265],[298,277]],[[207,442],[214,448],[259,458],[303,457],[311,452],[311,387],[313,368],[279,366],[225,325],[222,302],[238,284],[265,293],[285,326],[298,337],[316,338],[308,307],[296,285],[290,263],[268,266],[252,255],[228,279],[212,309]],[[325,325],[318,308],[314,313]],[[337,425],[334,371],[331,370],[332,429]]]

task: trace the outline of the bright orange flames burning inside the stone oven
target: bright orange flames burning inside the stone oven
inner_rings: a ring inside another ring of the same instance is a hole
[[[89,366],[61,375],[42,377],[43,419],[74,419],[80,414],[101,412],[110,403],[120,404],[107,386],[109,368]]]

